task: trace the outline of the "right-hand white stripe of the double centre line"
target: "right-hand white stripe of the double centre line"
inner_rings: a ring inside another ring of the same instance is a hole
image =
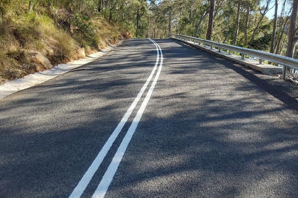
[[[149,39],[151,40],[151,39]],[[151,40],[156,46],[158,46],[158,48],[160,49],[160,46],[153,40]],[[160,49],[160,66],[158,68],[158,71],[156,73],[156,76],[149,88],[149,91],[144,99],[144,101],[142,102],[142,105],[140,107],[140,109],[138,110],[137,115],[135,116],[133,122],[131,123],[131,126],[129,127],[129,129],[127,130],[127,133],[125,135],[125,137],[123,138],[116,154],[113,157],[112,162],[110,163],[106,173],[103,175],[102,180],[100,181],[97,189],[95,190],[95,193],[93,194],[92,198],[103,198],[108,190],[108,187],[110,186],[110,183],[112,182],[112,179],[117,171],[117,168],[122,160],[122,157],[124,155],[124,152],[129,144],[129,142],[131,141],[131,137],[132,135],[135,133],[135,130],[138,126],[138,123],[142,117],[142,114],[147,106],[147,103],[151,97],[151,94],[153,92],[153,89],[156,85],[157,79],[160,75],[161,72],[161,68],[163,65],[163,53]]]

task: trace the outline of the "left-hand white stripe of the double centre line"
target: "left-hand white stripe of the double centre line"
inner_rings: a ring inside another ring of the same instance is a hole
[[[99,165],[102,163],[102,160],[105,158],[106,154],[110,150],[113,142],[116,140],[116,138],[117,138],[118,134],[120,133],[120,131],[122,130],[124,124],[127,122],[127,119],[131,115],[132,111],[135,109],[135,106],[137,105],[138,101],[141,99],[141,97],[142,97],[145,89],[147,88],[149,82],[151,81],[151,79],[152,79],[152,77],[153,77],[153,75],[155,73],[155,70],[157,68],[157,65],[158,65],[158,61],[159,61],[159,50],[158,50],[158,47],[157,46],[156,46],[156,51],[157,51],[156,63],[155,63],[155,66],[154,66],[151,74],[149,75],[147,81],[143,85],[141,91],[138,93],[138,95],[135,98],[135,100],[132,102],[131,106],[129,107],[129,109],[127,110],[127,112],[125,113],[125,115],[123,116],[122,120],[120,121],[120,123],[118,124],[118,126],[116,127],[116,129],[113,131],[112,135],[109,137],[109,139],[106,142],[106,144],[102,147],[101,151],[96,156],[95,160],[92,162],[92,164],[88,168],[87,172],[84,174],[84,176],[82,177],[82,179],[80,180],[80,182],[75,187],[74,191],[69,196],[69,198],[79,198],[83,194],[84,190],[88,186],[88,183],[92,179],[94,173],[97,171]]]

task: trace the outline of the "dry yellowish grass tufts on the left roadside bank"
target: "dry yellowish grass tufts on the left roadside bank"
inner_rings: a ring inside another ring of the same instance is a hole
[[[90,54],[116,43],[118,39],[130,37],[127,30],[94,19],[94,34],[79,44],[78,35],[58,28],[47,14],[23,12],[17,17],[11,14],[8,18],[10,20],[0,23],[0,84],[35,72],[34,61],[28,54],[30,51],[45,54],[52,64],[59,64],[81,58],[77,55],[81,45],[86,54]],[[48,53],[51,47],[59,48],[62,57],[51,56]]]

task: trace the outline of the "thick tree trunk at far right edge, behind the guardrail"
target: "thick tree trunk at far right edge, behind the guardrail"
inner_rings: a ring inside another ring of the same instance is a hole
[[[290,16],[290,24],[289,24],[288,47],[285,53],[285,56],[290,58],[293,58],[294,48],[298,41],[298,36],[295,36],[296,30],[297,30],[296,29],[297,15],[298,15],[298,0],[293,0],[293,9],[292,9],[292,14]]]

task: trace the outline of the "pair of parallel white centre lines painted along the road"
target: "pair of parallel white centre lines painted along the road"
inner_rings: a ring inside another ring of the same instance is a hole
[[[151,40],[151,39],[149,39]],[[74,191],[71,193],[71,195],[69,196],[69,198],[79,198],[82,193],[84,192],[84,190],[86,189],[86,187],[88,186],[88,183],[90,182],[90,180],[92,179],[93,175],[95,174],[95,172],[97,171],[99,165],[101,164],[103,158],[105,158],[106,154],[108,153],[108,151],[110,150],[113,142],[116,140],[118,134],[120,133],[120,131],[122,130],[124,124],[127,122],[127,119],[129,118],[129,116],[131,115],[133,109],[135,109],[135,106],[137,105],[138,101],[141,99],[145,89],[147,88],[149,82],[151,81],[158,62],[159,62],[159,57],[160,57],[160,65],[159,68],[157,70],[156,76],[153,79],[153,82],[147,92],[147,95],[144,99],[144,101],[142,102],[141,107],[138,110],[138,113],[136,114],[134,120],[131,123],[131,126],[129,127],[129,129],[127,130],[126,135],[124,136],[116,154],[113,157],[112,162],[110,163],[106,173],[103,175],[101,182],[99,183],[97,189],[95,190],[95,193],[93,194],[92,198],[102,198],[105,196],[106,191],[110,185],[110,183],[112,182],[112,179],[117,171],[117,168],[122,160],[122,157],[124,155],[124,152],[131,140],[132,135],[135,133],[135,130],[138,126],[138,123],[142,117],[142,114],[147,106],[147,103],[151,97],[151,94],[153,92],[153,89],[156,85],[157,79],[160,75],[161,72],[161,68],[163,65],[163,53],[160,49],[160,46],[154,41],[151,40],[151,42],[153,42],[153,44],[156,46],[156,51],[157,51],[157,57],[156,57],[156,63],[155,66],[151,72],[151,74],[149,75],[148,79],[146,80],[145,84],[143,85],[141,91],[138,93],[137,97],[135,98],[135,100],[132,102],[131,106],[129,107],[129,109],[127,110],[127,112],[125,113],[125,115],[123,116],[122,120],[120,121],[120,123],[118,124],[118,126],[116,127],[116,129],[113,131],[112,135],[109,137],[108,141],[106,142],[106,144],[103,146],[103,148],[101,149],[101,151],[99,152],[99,154],[96,156],[95,160],[92,162],[92,164],[90,165],[90,167],[88,168],[87,172],[84,174],[84,176],[82,177],[82,179],[80,180],[80,182],[78,183],[78,185],[76,186],[76,188],[74,189]]]

